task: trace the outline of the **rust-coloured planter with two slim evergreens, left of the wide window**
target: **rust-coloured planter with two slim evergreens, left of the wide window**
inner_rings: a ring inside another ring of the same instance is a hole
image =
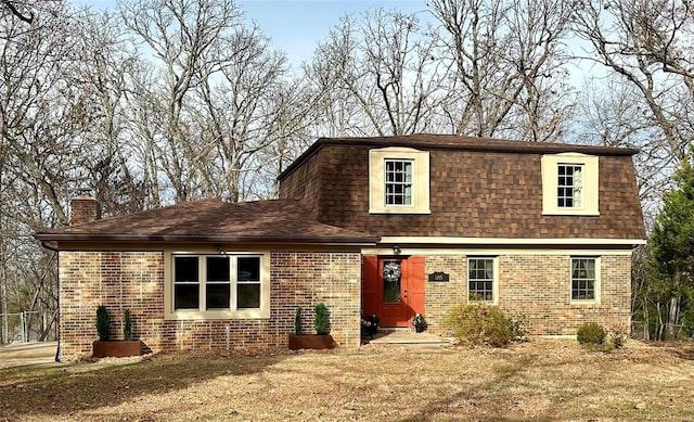
[[[139,340],[132,340],[132,321],[130,309],[126,309],[123,316],[124,340],[110,341],[111,318],[104,305],[97,308],[97,332],[99,340],[92,343],[92,356],[95,358],[139,356],[141,345]]]

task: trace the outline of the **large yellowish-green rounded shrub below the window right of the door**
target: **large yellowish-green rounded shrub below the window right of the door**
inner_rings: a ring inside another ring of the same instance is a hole
[[[526,319],[506,317],[498,306],[481,304],[453,308],[444,323],[463,342],[503,347],[515,336],[525,335]]]

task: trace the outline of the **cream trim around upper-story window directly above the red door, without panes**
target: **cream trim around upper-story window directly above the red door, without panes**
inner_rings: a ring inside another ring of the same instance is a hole
[[[385,161],[412,161],[412,204],[386,205]],[[429,208],[429,153],[389,146],[369,151],[370,214],[432,214]]]

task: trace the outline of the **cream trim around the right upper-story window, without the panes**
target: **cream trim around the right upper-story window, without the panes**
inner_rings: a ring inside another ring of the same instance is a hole
[[[578,207],[558,207],[556,191],[558,187],[558,165],[581,165],[582,201]],[[542,215],[548,216],[599,216],[600,215],[600,167],[593,155],[562,153],[543,155],[542,167]]]

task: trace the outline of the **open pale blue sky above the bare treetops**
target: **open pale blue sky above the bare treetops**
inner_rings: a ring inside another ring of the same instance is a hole
[[[115,0],[68,0],[74,7],[115,9]],[[425,0],[236,0],[277,50],[286,52],[291,63],[310,60],[316,44],[346,13],[359,14],[383,7],[404,13],[426,10]]]

